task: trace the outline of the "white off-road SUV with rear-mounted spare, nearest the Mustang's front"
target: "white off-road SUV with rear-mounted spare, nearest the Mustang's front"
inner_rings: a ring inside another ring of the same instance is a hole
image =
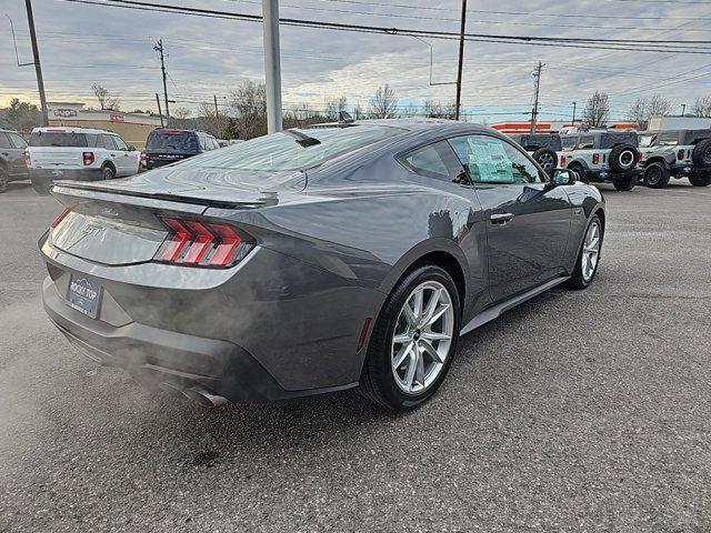
[[[611,182],[618,191],[631,191],[642,169],[635,131],[582,131],[562,134],[559,164],[573,170],[580,181]]]

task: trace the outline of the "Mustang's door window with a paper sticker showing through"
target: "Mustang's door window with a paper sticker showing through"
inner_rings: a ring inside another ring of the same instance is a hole
[[[474,183],[512,184],[543,181],[535,164],[501,139],[467,135],[450,139],[457,157]]]

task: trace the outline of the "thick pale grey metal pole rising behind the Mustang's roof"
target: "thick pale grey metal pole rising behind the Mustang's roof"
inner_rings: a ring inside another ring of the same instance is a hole
[[[281,131],[281,60],[279,54],[279,0],[262,0],[267,131]]]

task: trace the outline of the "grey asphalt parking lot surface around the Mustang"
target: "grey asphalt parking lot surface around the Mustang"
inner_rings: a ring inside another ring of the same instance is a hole
[[[672,180],[673,181],[673,180]],[[41,309],[60,211],[0,195],[0,531],[711,531],[711,187],[602,185],[595,283],[464,336],[423,409],[207,410]]]

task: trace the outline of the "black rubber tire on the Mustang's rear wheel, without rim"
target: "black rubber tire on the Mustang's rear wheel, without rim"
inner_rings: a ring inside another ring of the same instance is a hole
[[[427,281],[439,282],[449,292],[453,308],[453,333],[449,352],[437,379],[419,394],[405,393],[398,386],[393,376],[391,366],[392,338],[400,312],[412,291]],[[432,398],[449,372],[457,350],[460,328],[461,303],[452,278],[445,270],[433,264],[425,263],[415,266],[398,282],[378,315],[363,362],[359,392],[369,400],[393,411],[409,411],[422,405]]]

